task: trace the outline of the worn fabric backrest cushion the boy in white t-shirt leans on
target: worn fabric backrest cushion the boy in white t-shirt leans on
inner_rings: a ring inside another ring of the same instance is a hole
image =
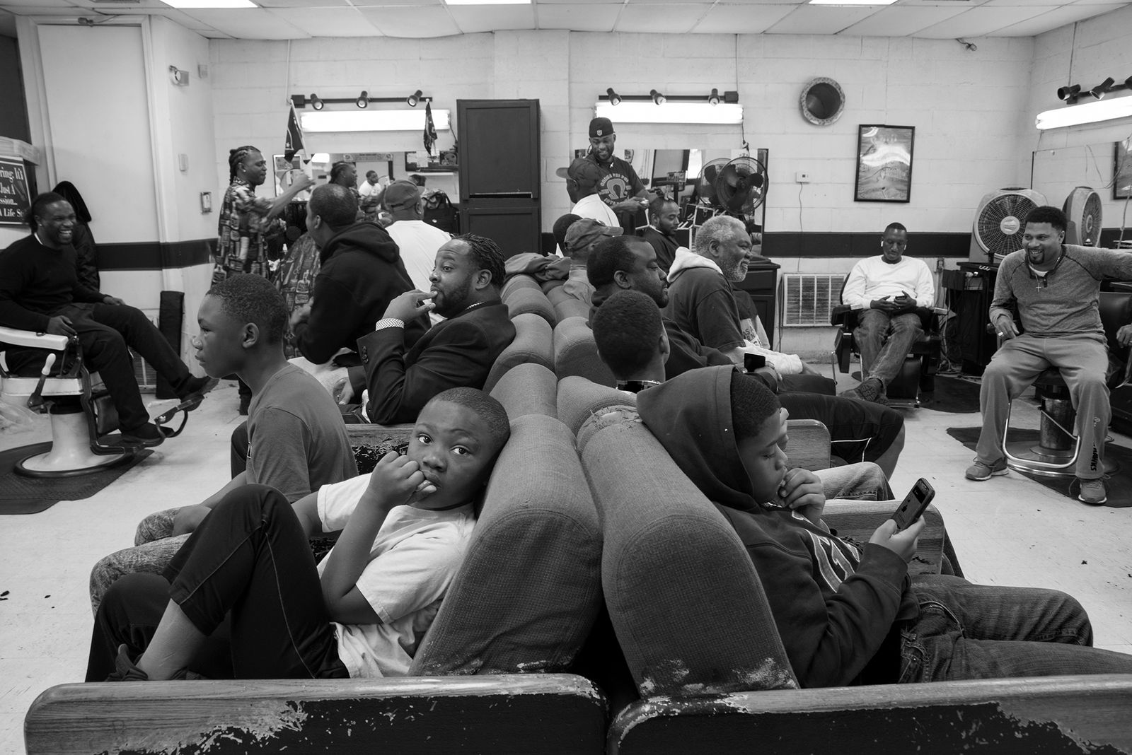
[[[526,415],[410,674],[566,669],[601,607],[601,531],[573,434]]]

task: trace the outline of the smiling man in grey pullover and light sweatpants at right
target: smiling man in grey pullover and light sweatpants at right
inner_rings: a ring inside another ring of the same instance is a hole
[[[1078,498],[1107,501],[1105,434],[1112,416],[1105,374],[1108,347],[1098,311],[1103,278],[1132,279],[1132,254],[1065,244],[1065,214],[1038,207],[1026,218],[1023,249],[998,267],[990,323],[1002,346],[983,373],[983,432],[967,479],[1006,474],[1003,428],[1010,402],[1044,370],[1057,367],[1077,409],[1081,445],[1077,457]],[[1011,311],[1017,306],[1021,329]],[[1125,329],[1117,336],[1129,339]]]

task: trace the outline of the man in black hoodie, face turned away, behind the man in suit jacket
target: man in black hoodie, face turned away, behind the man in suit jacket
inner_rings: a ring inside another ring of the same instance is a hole
[[[397,245],[375,223],[355,223],[358,200],[350,189],[327,183],[310,194],[307,233],[319,250],[319,269],[311,301],[291,315],[294,342],[315,364],[332,358],[338,366],[361,365],[355,355],[335,358],[338,349],[353,352],[358,339],[374,331],[389,302],[413,289]],[[423,333],[413,322],[410,344]],[[365,388],[357,371],[357,394]]]

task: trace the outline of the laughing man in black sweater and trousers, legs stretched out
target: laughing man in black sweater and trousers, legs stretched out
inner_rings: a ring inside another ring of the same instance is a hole
[[[60,194],[36,197],[28,209],[32,235],[0,254],[0,326],[78,338],[86,366],[97,371],[118,410],[122,441],[157,445],[165,435],[149,422],[127,346],[169,381],[186,409],[215,384],[194,378],[169,341],[139,310],[78,281],[71,246],[75,209]],[[9,348],[8,368],[37,371],[41,349]],[[199,401],[197,401],[199,402]]]

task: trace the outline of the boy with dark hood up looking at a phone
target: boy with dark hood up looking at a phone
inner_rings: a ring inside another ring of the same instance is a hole
[[[1055,590],[909,578],[923,520],[863,548],[830,532],[813,472],[790,469],[787,413],[756,378],[693,370],[637,396],[644,424],[735,528],[803,687],[1127,674]],[[895,507],[895,502],[893,502]]]

